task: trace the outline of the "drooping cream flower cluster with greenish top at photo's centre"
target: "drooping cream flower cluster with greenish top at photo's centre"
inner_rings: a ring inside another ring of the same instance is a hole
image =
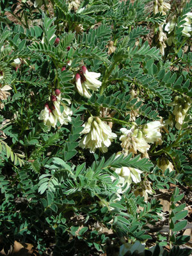
[[[102,153],[108,152],[111,141],[116,138],[111,128],[97,116],[88,118],[81,133],[85,135],[79,141],[79,147],[89,148],[90,153],[94,153],[96,148],[99,148]]]

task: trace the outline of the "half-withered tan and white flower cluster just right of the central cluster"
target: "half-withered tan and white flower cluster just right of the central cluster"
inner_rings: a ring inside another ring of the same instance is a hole
[[[143,157],[148,157],[147,151],[150,148],[148,143],[162,143],[160,132],[162,126],[161,122],[154,121],[143,125],[141,130],[135,129],[135,125],[133,125],[130,130],[121,128],[120,131],[123,133],[123,135],[120,136],[122,148],[124,148],[127,153],[132,152],[133,156],[139,151],[143,154]]]

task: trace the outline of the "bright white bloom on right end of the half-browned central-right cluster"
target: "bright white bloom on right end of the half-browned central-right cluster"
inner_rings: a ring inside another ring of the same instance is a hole
[[[143,133],[145,134],[145,140],[148,143],[154,143],[155,141],[161,140],[160,128],[163,125],[159,121],[149,122],[145,125]]]

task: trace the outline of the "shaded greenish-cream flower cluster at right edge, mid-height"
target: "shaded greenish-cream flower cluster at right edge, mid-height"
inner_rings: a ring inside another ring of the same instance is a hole
[[[182,99],[179,96],[176,96],[172,103],[169,106],[175,106],[173,109],[173,115],[175,116],[175,127],[179,130],[184,122],[184,118],[186,117],[186,113],[191,106],[192,100],[190,97],[184,97]],[[168,120],[165,120],[166,124],[172,126],[172,115],[169,116]]]

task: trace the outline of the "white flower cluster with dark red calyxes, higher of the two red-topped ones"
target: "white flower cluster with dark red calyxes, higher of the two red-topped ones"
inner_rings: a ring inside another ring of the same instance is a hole
[[[76,87],[81,96],[90,98],[92,94],[89,90],[98,91],[101,82],[97,80],[100,73],[89,72],[85,66],[81,67],[81,72],[76,74]]]

